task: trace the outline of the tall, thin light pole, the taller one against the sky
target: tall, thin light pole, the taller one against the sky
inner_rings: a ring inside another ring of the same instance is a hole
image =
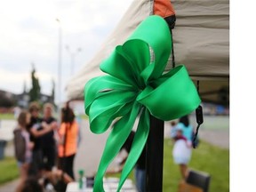
[[[56,21],[59,24],[59,47],[58,47],[58,98],[59,98],[59,105],[57,102],[58,107],[58,117],[60,117],[60,104],[61,104],[61,48],[62,48],[62,29],[60,20],[57,18]]]

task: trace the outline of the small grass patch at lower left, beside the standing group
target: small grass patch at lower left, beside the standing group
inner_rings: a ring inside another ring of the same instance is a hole
[[[19,177],[19,170],[16,159],[7,156],[0,160],[0,172],[0,185],[7,181],[17,179]]]

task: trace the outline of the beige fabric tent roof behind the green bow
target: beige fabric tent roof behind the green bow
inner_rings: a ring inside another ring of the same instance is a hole
[[[200,82],[215,82],[215,87],[229,82],[229,1],[228,0],[172,0],[176,25],[172,30],[176,66],[184,64],[189,76]],[[66,86],[69,100],[84,97],[84,85],[92,77],[104,75],[100,63],[124,44],[133,30],[153,14],[153,0],[134,0],[114,31],[102,44],[92,60],[82,68]],[[166,70],[172,68],[172,56]],[[205,84],[204,82],[204,84]],[[200,92],[211,87],[204,85]]]

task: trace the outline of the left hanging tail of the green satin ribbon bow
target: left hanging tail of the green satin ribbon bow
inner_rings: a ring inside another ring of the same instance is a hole
[[[100,165],[95,178],[93,192],[104,191],[104,174],[108,169],[108,165],[118,154],[121,147],[124,145],[124,141],[127,140],[130,132],[132,131],[133,124],[135,123],[136,117],[140,112],[140,106],[141,105],[138,102],[134,102],[131,113],[119,119],[114,125],[112,132],[110,132],[103,151],[103,155],[101,156]]]

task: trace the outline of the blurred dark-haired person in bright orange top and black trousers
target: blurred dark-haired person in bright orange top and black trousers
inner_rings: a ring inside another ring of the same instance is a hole
[[[71,108],[61,109],[61,124],[59,129],[59,167],[75,180],[73,172],[78,140],[78,124]]]

